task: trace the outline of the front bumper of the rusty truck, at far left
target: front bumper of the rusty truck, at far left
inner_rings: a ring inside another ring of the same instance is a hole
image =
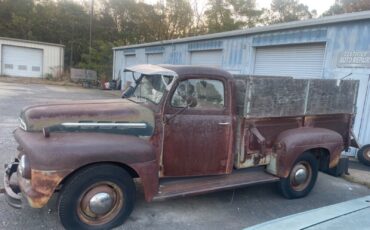
[[[22,208],[22,193],[18,184],[18,162],[5,165],[4,189],[8,204],[14,208]]]

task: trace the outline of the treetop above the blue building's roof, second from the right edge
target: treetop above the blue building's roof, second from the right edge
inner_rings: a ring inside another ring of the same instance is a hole
[[[316,16],[316,11],[310,11],[308,6],[298,0],[272,0],[271,10],[265,12],[265,23],[275,24],[310,19]]]

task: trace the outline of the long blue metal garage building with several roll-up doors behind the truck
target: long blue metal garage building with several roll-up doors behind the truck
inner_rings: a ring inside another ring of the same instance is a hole
[[[219,67],[233,74],[360,81],[354,131],[370,143],[370,11],[113,48],[113,78],[135,64]]]

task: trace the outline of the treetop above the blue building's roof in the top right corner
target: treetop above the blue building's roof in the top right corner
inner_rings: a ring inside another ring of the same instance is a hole
[[[370,10],[369,0],[336,0],[322,16]]]

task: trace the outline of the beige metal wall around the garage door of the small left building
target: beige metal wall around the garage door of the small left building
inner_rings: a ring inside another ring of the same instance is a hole
[[[57,74],[64,68],[64,48],[62,46],[52,46],[38,43],[28,43],[21,41],[12,41],[0,39],[0,54],[2,53],[2,45],[20,46],[43,50],[43,75]],[[0,63],[2,57],[0,57]],[[1,73],[1,65],[0,65]]]

